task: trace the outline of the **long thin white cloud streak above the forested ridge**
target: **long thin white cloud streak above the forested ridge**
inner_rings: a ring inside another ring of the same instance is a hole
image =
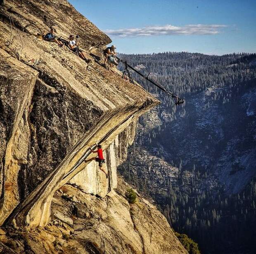
[[[214,35],[226,25],[186,25],[186,26],[146,26],[142,28],[108,29],[104,32],[111,36],[156,36],[156,35]]]

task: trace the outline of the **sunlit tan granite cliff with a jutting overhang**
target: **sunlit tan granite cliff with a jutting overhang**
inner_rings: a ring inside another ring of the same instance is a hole
[[[92,62],[40,40],[49,26],[63,38],[78,33]],[[117,176],[137,118],[159,101],[94,61],[107,35],[65,0],[9,0],[0,40],[0,250],[186,253],[155,207],[129,205]],[[107,179],[82,162],[96,142]]]

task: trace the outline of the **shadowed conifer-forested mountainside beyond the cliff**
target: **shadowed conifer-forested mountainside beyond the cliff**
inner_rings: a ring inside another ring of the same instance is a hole
[[[198,242],[202,253],[254,253],[256,54],[119,57],[185,98],[175,106],[132,73],[161,104],[140,118],[121,174],[153,198],[175,231]]]

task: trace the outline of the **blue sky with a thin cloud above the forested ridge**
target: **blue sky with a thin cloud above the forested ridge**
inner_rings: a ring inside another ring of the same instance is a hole
[[[256,0],[69,0],[121,53],[256,52]]]

